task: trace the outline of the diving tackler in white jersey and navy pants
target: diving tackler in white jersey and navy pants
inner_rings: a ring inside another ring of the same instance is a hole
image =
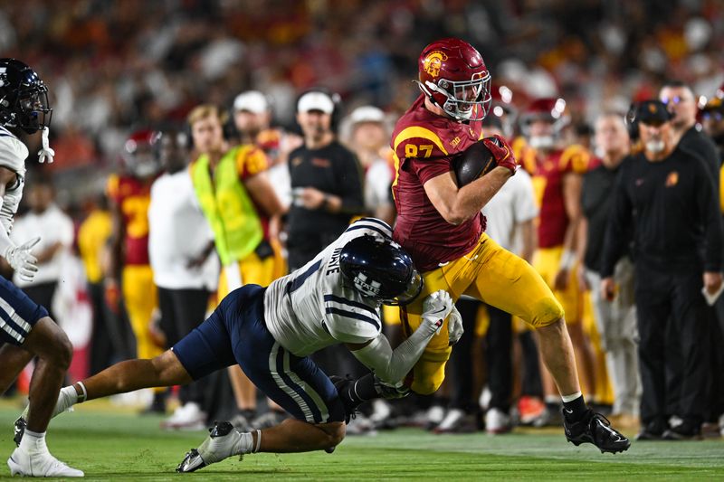
[[[243,432],[217,422],[211,435],[176,468],[193,472],[233,455],[252,452],[333,450],[345,436],[348,411],[338,390],[309,358],[344,343],[375,376],[357,381],[366,399],[406,392],[401,381],[433,338],[444,345],[462,336],[462,318],[450,295],[424,299],[417,331],[395,350],[381,333],[378,308],[404,304],[423,289],[410,257],[392,241],[392,230],[374,218],[349,226],[313,260],[268,288],[232,291],[211,317],[152,360],[129,360],[62,389],[54,414],[114,393],[190,383],[239,364],[244,373],[294,418],[265,430]],[[450,315],[447,336],[440,335]]]

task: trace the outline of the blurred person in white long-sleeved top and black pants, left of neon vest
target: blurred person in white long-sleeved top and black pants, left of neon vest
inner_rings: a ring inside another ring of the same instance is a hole
[[[155,139],[165,173],[151,185],[148,256],[167,348],[205,320],[209,296],[219,276],[219,262],[212,252],[214,233],[198,206],[186,169],[189,142],[185,133],[174,129],[164,130]],[[181,406],[164,421],[166,428],[206,427],[206,382],[204,378],[181,387]]]

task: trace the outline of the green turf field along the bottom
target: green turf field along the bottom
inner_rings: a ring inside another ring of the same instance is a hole
[[[0,479],[14,449],[16,403],[0,403]],[[491,437],[433,435],[424,430],[348,437],[334,454],[248,455],[194,474],[174,468],[205,432],[159,430],[160,417],[139,417],[89,402],[52,421],[48,445],[90,480],[724,480],[724,440],[639,442],[624,454],[574,447],[562,430]],[[632,434],[628,434],[632,435]]]

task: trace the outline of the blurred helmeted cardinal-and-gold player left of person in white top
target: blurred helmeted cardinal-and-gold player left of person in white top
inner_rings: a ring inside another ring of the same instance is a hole
[[[157,134],[139,129],[130,134],[123,146],[121,160],[124,172],[111,175],[107,191],[113,220],[110,250],[110,276],[105,279],[107,301],[118,311],[119,292],[136,336],[136,353],[153,358],[163,350],[154,341],[150,324],[158,306],[153,271],[148,260],[148,206],[151,184],[161,165],[154,156],[153,142]],[[149,411],[166,411],[165,390],[156,391]]]

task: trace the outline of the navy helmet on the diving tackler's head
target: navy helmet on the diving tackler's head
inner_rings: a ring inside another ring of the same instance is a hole
[[[395,241],[355,238],[342,248],[339,268],[357,291],[385,305],[406,305],[423,290],[412,258]]]

